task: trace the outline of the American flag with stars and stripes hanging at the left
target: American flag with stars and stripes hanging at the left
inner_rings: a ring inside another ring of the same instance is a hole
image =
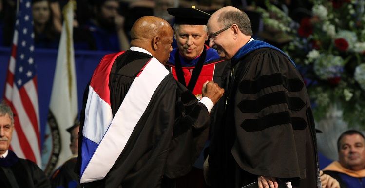
[[[39,105],[31,0],[18,1],[13,45],[5,84],[5,101],[11,106],[15,130],[10,145],[19,158],[41,166]]]

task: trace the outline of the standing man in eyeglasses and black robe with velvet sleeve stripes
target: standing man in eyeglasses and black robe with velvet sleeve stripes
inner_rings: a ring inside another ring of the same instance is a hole
[[[210,46],[232,67],[205,163],[211,186],[321,188],[312,110],[294,62],[252,39],[250,20],[237,8],[219,9],[207,26]]]

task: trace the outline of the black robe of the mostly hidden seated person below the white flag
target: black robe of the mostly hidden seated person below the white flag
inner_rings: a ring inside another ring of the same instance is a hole
[[[60,166],[51,177],[52,188],[80,188],[80,177],[74,172],[77,157],[72,157]]]

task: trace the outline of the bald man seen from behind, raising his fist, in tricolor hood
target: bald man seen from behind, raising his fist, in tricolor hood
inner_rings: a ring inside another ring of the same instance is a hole
[[[104,56],[84,93],[76,168],[84,188],[173,188],[224,93],[209,81],[198,101],[164,67],[173,43],[164,19],[142,17],[131,32],[131,48]]]

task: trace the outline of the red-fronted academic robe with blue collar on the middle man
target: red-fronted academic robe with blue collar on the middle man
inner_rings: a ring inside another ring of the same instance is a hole
[[[219,87],[224,88],[230,61],[220,58],[215,49],[204,45],[200,56],[191,60],[184,58],[178,48],[173,49],[165,66],[176,80],[200,99],[203,84],[207,80],[213,80]],[[225,103],[225,99],[221,98],[211,109],[210,125],[221,121]]]

